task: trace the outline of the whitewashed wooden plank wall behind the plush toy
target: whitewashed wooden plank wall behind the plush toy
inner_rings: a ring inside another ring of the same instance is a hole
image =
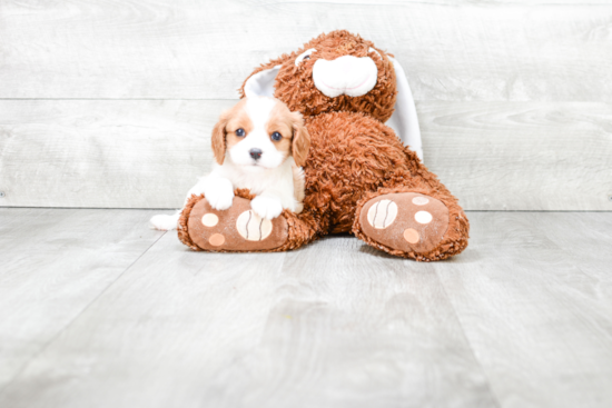
[[[610,1],[0,2],[0,206],[174,208],[257,64],[348,29],[472,210],[612,210]],[[2,195],[0,195],[2,196]]]

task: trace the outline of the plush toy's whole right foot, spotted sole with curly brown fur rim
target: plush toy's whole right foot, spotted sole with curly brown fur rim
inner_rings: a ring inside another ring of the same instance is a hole
[[[441,187],[422,183],[367,193],[357,203],[353,232],[375,248],[419,261],[461,252],[470,223],[457,200]]]

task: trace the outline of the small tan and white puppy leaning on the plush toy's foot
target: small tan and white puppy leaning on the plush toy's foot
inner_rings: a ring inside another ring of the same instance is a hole
[[[248,188],[257,196],[250,207],[261,218],[276,218],[284,208],[302,211],[302,166],[310,137],[299,112],[275,98],[245,98],[221,113],[211,141],[213,171],[187,192],[185,203],[191,195],[204,193],[214,209],[227,210],[234,189]],[[150,222],[159,230],[175,229],[180,212],[155,216]]]

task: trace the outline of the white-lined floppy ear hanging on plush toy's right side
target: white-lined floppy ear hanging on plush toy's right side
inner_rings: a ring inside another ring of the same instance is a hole
[[[416,117],[416,107],[412,97],[411,86],[404,73],[404,69],[395,58],[388,57],[395,69],[397,81],[397,100],[395,101],[393,116],[385,122],[402,139],[404,145],[416,152],[423,161],[423,143],[421,142],[421,129]]]

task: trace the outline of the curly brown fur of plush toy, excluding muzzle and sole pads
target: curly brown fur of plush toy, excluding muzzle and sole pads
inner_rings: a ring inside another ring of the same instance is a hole
[[[275,97],[292,111],[303,113],[310,133],[310,150],[304,166],[306,197],[299,215],[284,211],[288,240],[282,251],[295,249],[328,233],[353,232],[366,243],[388,253],[419,261],[441,260],[461,252],[467,246],[470,223],[457,199],[430,172],[416,153],[402,145],[394,131],[384,125],[396,100],[395,70],[382,50],[374,59],[378,69],[376,86],[362,97],[329,98],[314,84],[315,60],[296,67],[297,56],[315,48],[317,58],[334,60],[342,56],[365,57],[371,41],[347,31],[322,34],[290,54],[284,54],[253,73],[280,64]],[[245,81],[246,83],[246,81]],[[244,96],[244,84],[240,89]],[[448,226],[434,249],[426,252],[403,251],[381,243],[366,235],[359,222],[364,205],[392,192],[416,192],[442,201],[448,210]],[[250,199],[248,191],[237,190]],[[179,222],[180,239],[199,249],[189,238],[189,209],[201,197],[193,197]]]

